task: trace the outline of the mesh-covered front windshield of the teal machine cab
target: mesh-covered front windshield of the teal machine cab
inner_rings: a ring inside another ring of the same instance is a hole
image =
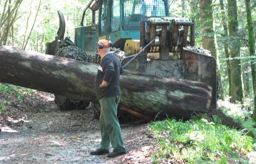
[[[125,0],[124,1],[124,28],[139,29],[143,17],[166,16],[163,0]]]

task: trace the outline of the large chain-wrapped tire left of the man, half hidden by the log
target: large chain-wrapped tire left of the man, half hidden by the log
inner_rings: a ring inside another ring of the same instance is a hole
[[[75,46],[62,47],[56,52],[56,56],[76,59],[78,61],[90,62],[87,54]],[[73,100],[61,95],[55,95],[55,103],[60,110],[84,110],[90,102]]]

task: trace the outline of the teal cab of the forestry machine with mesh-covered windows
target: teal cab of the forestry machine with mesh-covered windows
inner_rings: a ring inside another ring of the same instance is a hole
[[[88,14],[91,20],[85,19]],[[75,29],[75,43],[89,56],[96,53],[98,39],[110,39],[123,50],[127,39],[140,39],[142,18],[162,16],[169,16],[166,0],[92,0],[83,10],[81,27]]]

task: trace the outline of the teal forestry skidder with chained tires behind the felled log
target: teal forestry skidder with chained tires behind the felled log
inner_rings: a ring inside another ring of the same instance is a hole
[[[92,13],[89,26],[83,25],[86,12]],[[83,10],[81,26],[75,29],[75,42],[64,38],[65,19],[60,11],[58,16],[60,28],[56,40],[48,43],[47,54],[98,63],[95,43],[109,39],[125,69],[204,82],[212,88],[210,106],[216,106],[215,58],[186,49],[195,44],[195,24],[169,16],[167,0],[91,0]],[[88,105],[61,95],[56,95],[56,103],[63,109]]]

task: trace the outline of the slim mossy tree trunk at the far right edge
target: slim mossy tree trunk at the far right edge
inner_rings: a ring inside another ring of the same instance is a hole
[[[253,32],[253,21],[252,21],[252,11],[250,8],[250,0],[245,1],[246,13],[247,13],[247,23],[248,23],[248,33],[249,33],[249,48],[250,48],[250,56],[255,56],[255,39]],[[254,112],[253,112],[253,120],[256,121],[256,63],[255,58],[252,58],[250,61],[252,68],[252,78],[253,78],[253,91],[254,91]]]

